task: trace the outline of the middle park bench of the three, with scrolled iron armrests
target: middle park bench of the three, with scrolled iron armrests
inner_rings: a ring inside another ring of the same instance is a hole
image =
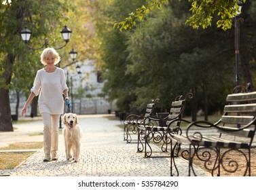
[[[191,93],[187,94],[185,98],[183,96],[177,96],[171,103],[170,111],[166,117],[161,118],[149,115],[139,124],[137,150],[138,152],[144,151],[144,157],[170,157],[168,145],[170,144],[171,138],[168,134],[169,132],[179,132],[181,123],[181,121],[171,121],[173,119],[182,119],[185,101],[188,98],[192,98]],[[149,122],[145,122],[148,120]],[[141,138],[142,134],[144,134],[144,138]],[[153,147],[155,150],[153,150]]]

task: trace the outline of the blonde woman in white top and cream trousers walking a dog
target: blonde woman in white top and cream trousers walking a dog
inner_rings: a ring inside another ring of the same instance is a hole
[[[62,94],[65,100],[69,99],[69,88],[64,71],[55,66],[60,61],[58,52],[54,48],[45,48],[40,58],[45,67],[37,71],[31,94],[22,109],[22,116],[33,98],[39,95],[39,112],[43,119],[43,161],[50,161],[58,159],[59,119],[64,110]]]

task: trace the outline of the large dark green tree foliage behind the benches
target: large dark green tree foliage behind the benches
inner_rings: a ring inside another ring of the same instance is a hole
[[[204,33],[189,30],[182,24],[185,15],[182,18],[177,8],[172,10],[171,7],[177,6],[174,3],[153,12],[153,17],[141,23],[128,41],[132,64],[128,65],[126,72],[139,81],[134,88],[139,107],[150,98],[160,98],[162,109],[166,109],[175,96],[185,96],[195,85],[200,89],[202,83],[208,81],[206,85],[210,88],[213,82],[219,85],[223,79],[213,56],[213,52],[218,54],[221,51],[216,44],[220,34],[210,30]],[[183,3],[179,12],[186,7],[187,4]],[[211,37],[213,33],[214,38]],[[222,55],[219,61],[223,61]]]

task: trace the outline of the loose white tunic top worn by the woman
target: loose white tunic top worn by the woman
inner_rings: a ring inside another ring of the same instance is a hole
[[[62,92],[67,88],[65,73],[59,67],[52,73],[45,69],[37,71],[31,92],[39,95],[40,113],[62,114],[64,111],[64,100]]]

